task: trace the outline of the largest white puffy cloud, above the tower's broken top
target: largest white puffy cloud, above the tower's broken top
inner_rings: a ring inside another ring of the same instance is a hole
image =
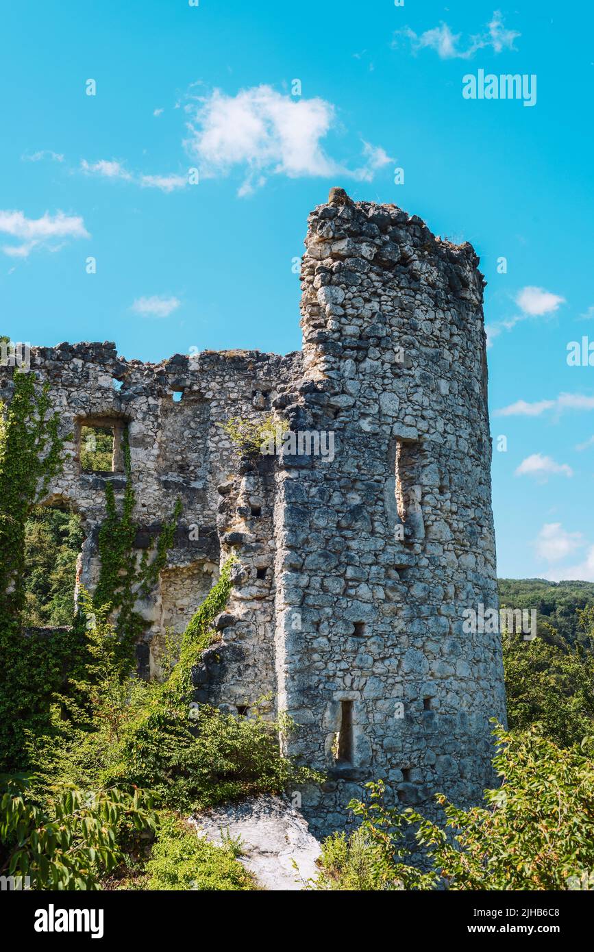
[[[214,89],[199,97],[188,123],[185,145],[199,163],[201,175],[226,175],[234,166],[247,169],[240,195],[251,193],[269,175],[289,178],[342,174],[370,181],[374,172],[393,161],[386,151],[364,142],[366,163],[347,169],[331,158],[322,140],[336,125],[336,111],[324,99],[294,99],[257,86],[231,96]]]

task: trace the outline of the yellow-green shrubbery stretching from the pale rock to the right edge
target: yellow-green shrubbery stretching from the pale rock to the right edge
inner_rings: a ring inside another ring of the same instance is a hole
[[[535,727],[514,735],[497,727],[494,759],[502,785],[485,806],[462,810],[438,795],[446,827],[410,808],[386,808],[383,784],[368,783],[370,803],[352,801],[361,832],[324,843],[322,889],[560,890],[594,868],[594,740],[560,748]],[[432,868],[401,862],[410,823]]]

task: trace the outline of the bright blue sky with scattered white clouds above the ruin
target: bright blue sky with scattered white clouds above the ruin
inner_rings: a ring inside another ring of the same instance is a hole
[[[594,580],[594,367],[566,363],[594,343],[590,8],[0,12],[2,332],[143,360],[296,349],[307,211],[333,185],[395,202],[481,256],[499,574]],[[465,99],[479,69],[535,75],[536,103]]]

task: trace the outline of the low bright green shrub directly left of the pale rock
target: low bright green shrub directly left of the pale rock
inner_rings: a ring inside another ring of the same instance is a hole
[[[233,849],[216,846],[172,814],[162,817],[147,863],[148,889],[249,890],[253,880]]]

